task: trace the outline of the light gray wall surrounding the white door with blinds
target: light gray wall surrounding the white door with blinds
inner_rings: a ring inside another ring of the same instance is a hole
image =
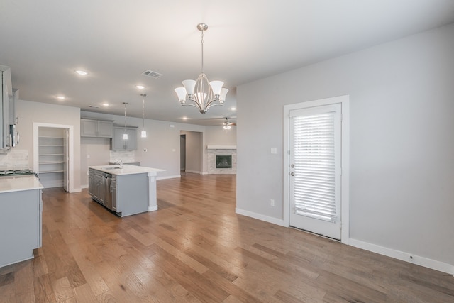
[[[284,104],[348,94],[350,238],[454,265],[453,54],[450,25],[238,87],[237,208],[283,218]]]

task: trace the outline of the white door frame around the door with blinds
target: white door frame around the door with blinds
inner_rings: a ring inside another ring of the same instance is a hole
[[[350,237],[350,211],[349,211],[349,180],[350,180],[350,96],[339,96],[313,101],[305,101],[297,104],[284,105],[284,225],[290,226],[290,111],[294,109],[306,109],[315,106],[341,104],[342,129],[341,129],[341,242],[348,244]]]

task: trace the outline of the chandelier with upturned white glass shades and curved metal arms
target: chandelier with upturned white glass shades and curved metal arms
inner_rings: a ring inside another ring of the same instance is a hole
[[[201,31],[201,73],[196,80],[184,80],[184,87],[177,87],[175,92],[179,102],[183,105],[195,106],[201,114],[205,114],[211,106],[224,105],[228,89],[223,88],[224,82],[211,81],[204,74],[204,31],[208,29],[205,23],[197,25]],[[186,103],[191,101],[193,103]]]

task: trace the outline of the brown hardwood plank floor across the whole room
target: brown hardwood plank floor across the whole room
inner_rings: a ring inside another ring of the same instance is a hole
[[[121,219],[45,189],[43,247],[0,268],[0,302],[454,302],[452,275],[235,214],[235,175],[157,198]]]

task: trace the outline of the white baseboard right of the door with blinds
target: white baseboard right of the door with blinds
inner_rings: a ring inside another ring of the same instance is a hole
[[[441,272],[446,272],[448,274],[454,275],[454,265],[448,263],[443,263],[437,260],[424,258],[419,255],[405,253],[400,250],[394,250],[391,248],[378,246],[372,243],[355,240],[353,238],[349,239],[349,244],[350,246],[355,246],[357,248],[372,251],[372,253],[379,253],[380,255],[386,255],[387,257],[395,258],[409,263],[414,263],[416,265],[421,265],[425,268],[431,268],[433,270],[438,270]]]

